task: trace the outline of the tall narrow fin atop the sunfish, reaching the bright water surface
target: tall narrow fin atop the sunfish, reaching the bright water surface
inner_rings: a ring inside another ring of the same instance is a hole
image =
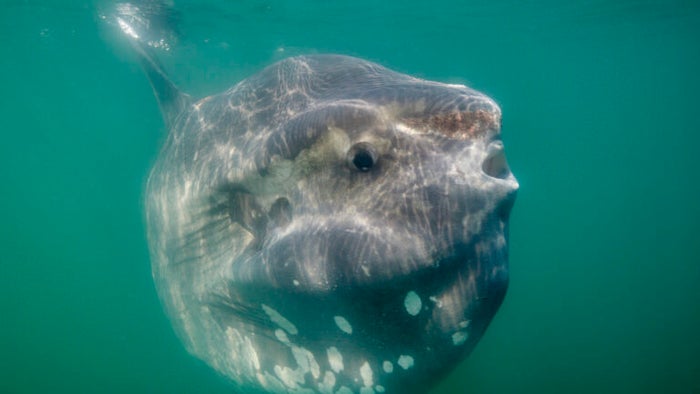
[[[172,127],[177,117],[191,105],[192,98],[168,78],[155,55],[155,48],[167,50],[169,42],[175,39],[177,14],[163,1],[144,0],[138,4],[117,4],[115,18],[139,56],[166,126]]]

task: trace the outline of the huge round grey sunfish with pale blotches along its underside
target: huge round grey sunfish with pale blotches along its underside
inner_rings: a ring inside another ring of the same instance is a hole
[[[153,276],[192,354],[241,393],[410,393],[474,348],[518,188],[493,100],[321,55],[196,101],[136,48],[169,128]]]

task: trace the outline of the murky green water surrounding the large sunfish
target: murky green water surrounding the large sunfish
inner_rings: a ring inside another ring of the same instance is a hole
[[[0,2],[0,392],[228,393],[151,283],[163,125],[106,5]],[[175,5],[195,94],[335,52],[501,104],[511,286],[434,393],[700,393],[699,2]]]

